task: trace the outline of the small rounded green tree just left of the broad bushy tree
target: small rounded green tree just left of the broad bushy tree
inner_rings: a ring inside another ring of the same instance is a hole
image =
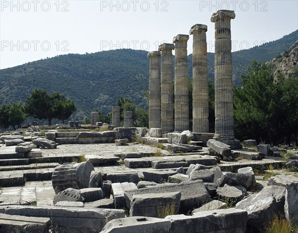
[[[25,113],[25,106],[23,103],[13,103],[9,108],[9,124],[12,125],[15,130],[16,127],[21,128],[21,123],[27,119],[27,115]]]

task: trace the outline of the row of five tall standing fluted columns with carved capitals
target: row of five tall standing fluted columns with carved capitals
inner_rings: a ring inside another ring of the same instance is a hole
[[[211,17],[215,22],[215,135],[214,139],[240,148],[234,138],[232,96],[232,54],[230,20],[234,11],[219,10]],[[195,24],[189,34],[193,35],[193,128],[194,133],[209,133],[207,25]],[[188,35],[178,34],[173,44],[159,46],[161,52],[161,81],[159,56],[150,52],[149,58],[149,128],[162,128],[163,133],[189,130],[188,100]],[[172,119],[172,50],[175,50],[174,74],[174,128]]]

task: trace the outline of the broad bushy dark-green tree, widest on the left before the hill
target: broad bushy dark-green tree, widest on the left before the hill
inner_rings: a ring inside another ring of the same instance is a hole
[[[68,100],[59,92],[48,94],[45,90],[35,89],[26,99],[26,112],[38,119],[48,119],[49,125],[53,118],[65,120],[75,111],[74,101]]]

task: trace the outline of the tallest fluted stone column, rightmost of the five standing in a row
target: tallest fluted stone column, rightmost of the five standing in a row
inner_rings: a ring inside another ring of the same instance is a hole
[[[211,17],[215,22],[215,135],[219,141],[234,139],[232,53],[230,20],[232,10],[219,10]]]

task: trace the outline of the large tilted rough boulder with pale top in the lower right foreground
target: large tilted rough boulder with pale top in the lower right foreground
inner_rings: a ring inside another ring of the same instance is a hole
[[[268,226],[277,213],[283,214],[285,188],[267,186],[236,204],[248,213],[247,231],[259,232]]]

